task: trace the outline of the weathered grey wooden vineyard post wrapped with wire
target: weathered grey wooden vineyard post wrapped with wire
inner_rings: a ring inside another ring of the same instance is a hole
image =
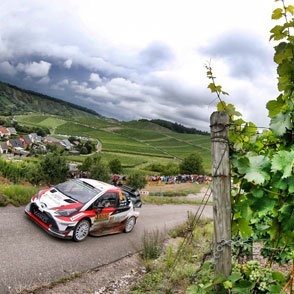
[[[210,117],[212,152],[212,195],[214,223],[214,253],[218,242],[232,237],[231,228],[231,175],[229,160],[229,116],[225,111],[216,111]],[[231,247],[222,247],[215,266],[215,275],[225,277],[232,270]]]

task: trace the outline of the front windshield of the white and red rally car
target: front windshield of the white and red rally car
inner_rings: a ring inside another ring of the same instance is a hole
[[[72,180],[59,184],[55,188],[66,196],[77,200],[80,203],[87,203],[94,196],[101,192],[97,188],[91,188],[90,185],[85,185],[82,181],[78,180]]]

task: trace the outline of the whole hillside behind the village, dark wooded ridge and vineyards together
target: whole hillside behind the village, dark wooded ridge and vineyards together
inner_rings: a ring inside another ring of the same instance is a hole
[[[0,115],[19,124],[47,127],[56,137],[93,137],[108,160],[119,158],[125,168],[144,169],[151,163],[178,163],[199,152],[211,169],[210,137],[206,132],[164,120],[117,121],[87,108],[0,82]],[[76,158],[82,161],[84,158]]]

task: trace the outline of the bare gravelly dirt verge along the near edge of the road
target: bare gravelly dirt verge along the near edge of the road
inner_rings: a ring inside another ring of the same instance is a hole
[[[44,285],[41,289],[30,289],[21,294],[118,294],[128,293],[134,280],[145,273],[138,254],[98,267],[80,274],[69,281]]]

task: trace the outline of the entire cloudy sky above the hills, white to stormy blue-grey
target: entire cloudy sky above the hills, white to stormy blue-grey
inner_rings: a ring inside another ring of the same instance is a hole
[[[0,80],[120,120],[209,129],[204,65],[246,120],[277,92],[274,0],[1,0]]]

